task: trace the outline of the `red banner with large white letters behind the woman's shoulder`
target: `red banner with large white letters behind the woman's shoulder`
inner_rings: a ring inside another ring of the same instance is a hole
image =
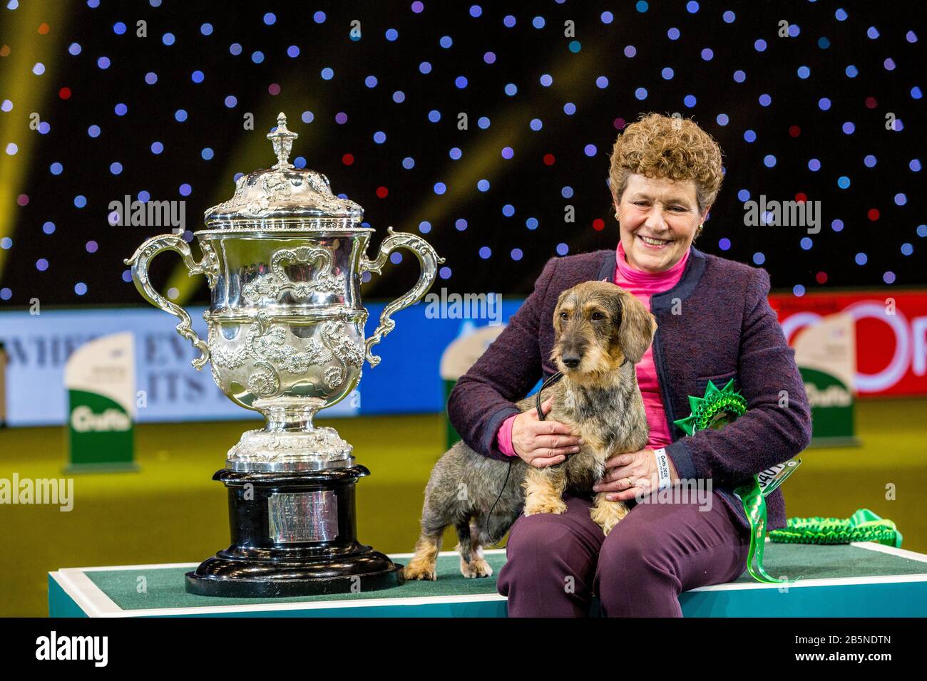
[[[872,291],[769,296],[789,344],[820,318],[856,321],[859,395],[927,395],[927,292]]]

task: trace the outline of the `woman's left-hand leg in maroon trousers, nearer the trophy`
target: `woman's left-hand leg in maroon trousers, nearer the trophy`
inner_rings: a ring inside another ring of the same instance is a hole
[[[497,588],[509,599],[509,617],[586,617],[590,586],[602,547],[592,502],[564,496],[566,511],[520,516],[505,547]]]

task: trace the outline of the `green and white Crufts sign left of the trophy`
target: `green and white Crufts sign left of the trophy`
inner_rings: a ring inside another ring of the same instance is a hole
[[[134,470],[135,348],[133,334],[112,334],[79,347],[68,359],[69,473]]]

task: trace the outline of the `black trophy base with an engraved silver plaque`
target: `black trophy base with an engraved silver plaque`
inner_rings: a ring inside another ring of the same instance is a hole
[[[197,596],[286,598],[376,591],[402,584],[402,565],[357,541],[361,465],[330,471],[222,469],[232,546],[185,575]]]

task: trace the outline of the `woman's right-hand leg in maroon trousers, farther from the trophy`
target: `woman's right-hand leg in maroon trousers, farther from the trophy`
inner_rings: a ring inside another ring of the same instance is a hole
[[[748,530],[717,493],[710,499],[705,511],[695,502],[638,503],[616,524],[593,584],[606,617],[681,617],[680,592],[743,573]]]

